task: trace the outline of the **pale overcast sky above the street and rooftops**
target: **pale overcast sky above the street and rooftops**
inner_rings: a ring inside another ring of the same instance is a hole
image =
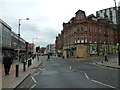
[[[43,47],[55,43],[63,29],[62,23],[68,22],[79,9],[88,16],[114,5],[114,0],[0,0],[0,18],[15,33],[18,33],[18,20],[23,19],[21,37],[30,43],[37,38],[34,43]]]

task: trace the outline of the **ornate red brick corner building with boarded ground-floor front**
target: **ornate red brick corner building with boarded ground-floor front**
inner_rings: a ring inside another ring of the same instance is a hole
[[[61,34],[56,37],[57,54],[67,57],[101,55],[103,51],[116,52],[117,30],[111,21],[97,19],[93,14],[86,16],[78,10],[68,23],[63,23]]]

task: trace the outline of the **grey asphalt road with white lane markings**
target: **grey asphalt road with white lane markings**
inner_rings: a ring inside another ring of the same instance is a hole
[[[94,65],[93,60],[74,61],[42,56],[43,65],[17,88],[116,88],[118,70]],[[99,60],[99,59],[98,59]]]

